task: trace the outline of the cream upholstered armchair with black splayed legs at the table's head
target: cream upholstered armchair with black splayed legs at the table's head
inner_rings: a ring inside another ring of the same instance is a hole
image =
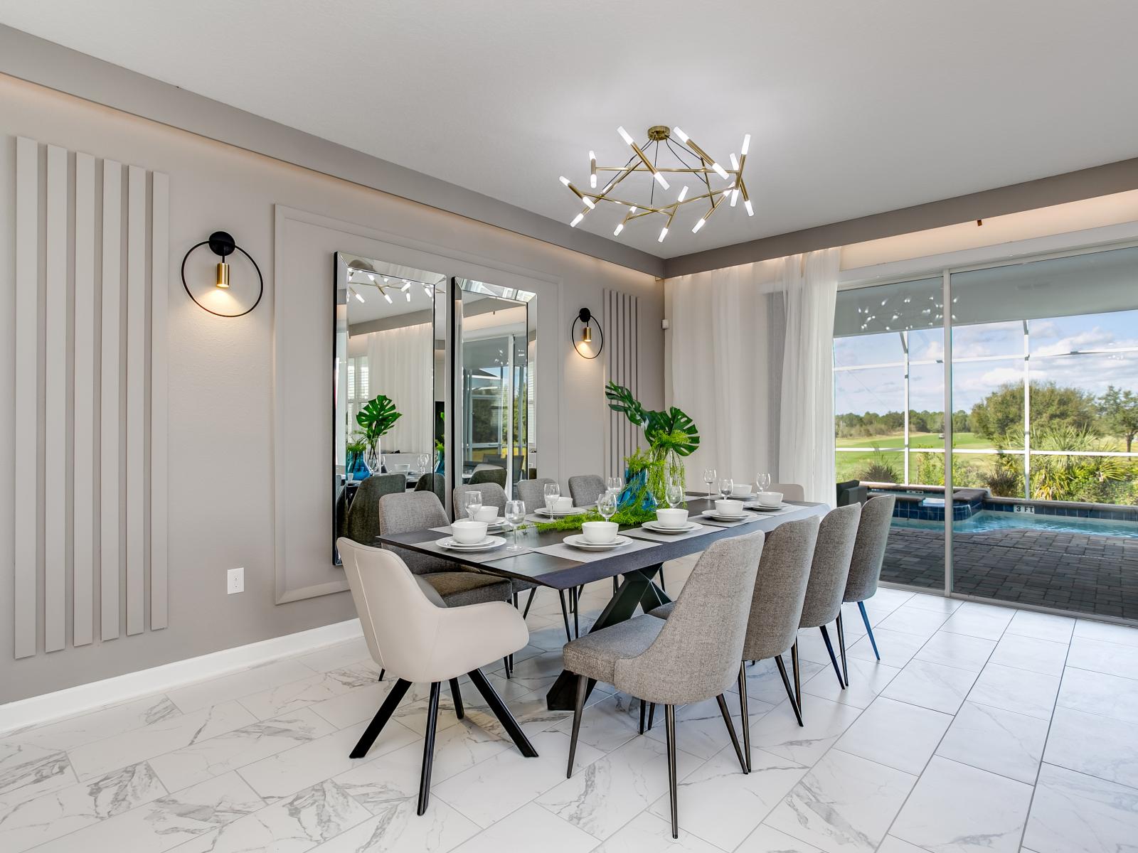
[[[384,726],[414,682],[430,685],[419,814],[430,797],[439,689],[451,682],[455,713],[462,717],[459,677],[467,674],[526,757],[536,757],[529,739],[479,666],[517,652],[529,641],[521,614],[505,602],[446,607],[438,593],[389,550],[370,548],[341,538],[337,541],[344,571],[368,651],[376,663],[396,677],[387,698],[369,723],[351,757],[368,754]]]

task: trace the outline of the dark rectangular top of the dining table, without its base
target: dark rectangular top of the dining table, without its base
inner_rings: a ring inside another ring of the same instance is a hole
[[[498,574],[503,578],[529,580],[544,587],[552,587],[553,589],[571,589],[580,586],[582,583],[591,583],[595,580],[603,580],[618,574],[625,574],[636,569],[646,569],[649,566],[659,565],[668,560],[676,560],[677,557],[684,557],[688,554],[696,554],[704,550],[711,543],[718,539],[725,539],[729,536],[753,533],[757,530],[770,531],[786,521],[805,519],[810,515],[825,515],[830,508],[825,504],[810,504],[791,500],[787,500],[786,503],[793,504],[794,506],[800,507],[800,510],[791,513],[781,513],[778,515],[760,516],[758,521],[750,524],[739,524],[737,527],[732,528],[711,528],[710,533],[703,533],[702,536],[693,536],[667,543],[652,543],[652,547],[649,548],[626,552],[616,550],[609,556],[602,557],[601,560],[594,560],[588,563],[578,563],[572,560],[563,560],[561,557],[551,556],[550,554],[541,554],[533,550],[523,552],[516,556],[504,555],[501,560],[494,560],[485,563],[464,560],[463,555],[460,553],[442,554],[434,548],[423,547],[423,543],[435,541],[436,539],[442,539],[447,536],[447,533],[442,533],[435,530],[417,530],[410,533],[380,536],[377,539],[377,544],[397,546],[399,548],[406,548],[407,550],[430,554],[431,556],[440,560],[446,560],[452,563],[477,569],[478,571],[488,572],[490,574]],[[707,499],[690,500],[687,503],[687,510],[691,513],[693,521],[696,521],[694,516],[709,508],[712,508],[712,504]],[[708,527],[711,525],[709,524]],[[562,539],[567,536],[571,536],[574,532],[576,531],[549,531],[542,533],[530,527],[528,530],[523,530],[518,533],[518,544],[525,545],[529,548],[542,548],[547,545],[558,545]],[[505,536],[509,539],[510,535],[505,533]],[[644,540],[638,539],[636,541]]]

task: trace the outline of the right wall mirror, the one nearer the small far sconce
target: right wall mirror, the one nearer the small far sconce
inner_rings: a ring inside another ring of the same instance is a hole
[[[462,480],[496,482],[512,497],[519,480],[537,477],[535,295],[463,279],[459,287]]]

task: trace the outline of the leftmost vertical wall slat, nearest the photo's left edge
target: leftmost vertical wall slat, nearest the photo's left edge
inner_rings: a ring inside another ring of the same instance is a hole
[[[35,654],[38,574],[36,470],[39,438],[40,147],[16,139],[16,657]]]

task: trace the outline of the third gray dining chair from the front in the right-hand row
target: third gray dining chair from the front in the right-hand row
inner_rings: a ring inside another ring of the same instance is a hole
[[[814,560],[810,562],[810,579],[806,587],[806,602],[802,605],[802,616],[799,628],[817,628],[830,653],[830,662],[834,665],[834,674],[842,689],[849,681],[846,678],[846,643],[842,639],[842,596],[846,594],[846,581],[850,573],[850,558],[853,556],[853,540],[857,538],[857,523],[861,517],[861,505],[839,506],[826,513],[818,525],[818,541],[814,547]],[[834,647],[830,641],[826,626],[838,622],[838,640],[841,646],[842,665],[838,666]],[[798,697],[799,711],[802,709],[802,685],[798,666],[798,640],[791,646],[791,662],[794,664],[794,695]]]

